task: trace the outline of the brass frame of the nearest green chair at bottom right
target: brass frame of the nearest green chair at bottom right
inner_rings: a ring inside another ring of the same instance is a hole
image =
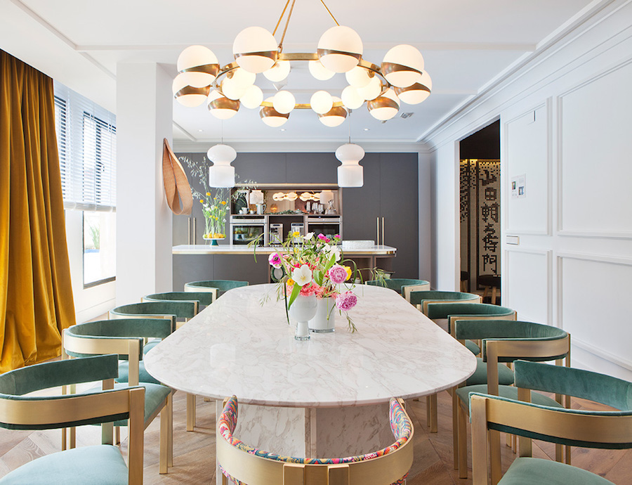
[[[518,399],[530,401],[530,390],[518,388]],[[531,406],[518,401],[473,393],[470,395],[472,413],[472,461],[474,485],[489,482],[488,460],[491,463],[492,485],[502,476],[499,431],[496,427],[513,428],[539,434],[538,439],[564,439],[601,444],[630,444],[632,411],[625,413],[555,410]],[[490,426],[491,425],[491,426]],[[520,436],[520,457],[532,456],[531,439]],[[555,442],[555,441],[553,441]],[[489,451],[488,451],[489,448]]]

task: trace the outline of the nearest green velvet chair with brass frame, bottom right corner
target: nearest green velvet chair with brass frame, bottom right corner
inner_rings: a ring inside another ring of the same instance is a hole
[[[632,382],[535,362],[515,361],[514,370],[518,400],[470,394],[474,485],[487,485],[489,462],[492,484],[612,484],[568,464],[532,458],[531,439],[582,448],[632,448]],[[532,390],[589,399],[617,410],[574,410],[530,403]],[[519,437],[520,457],[504,475],[499,432]]]

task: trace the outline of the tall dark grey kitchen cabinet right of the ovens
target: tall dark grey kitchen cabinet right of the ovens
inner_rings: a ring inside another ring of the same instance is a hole
[[[344,238],[377,240],[379,219],[380,244],[397,248],[392,261],[395,278],[419,276],[417,157],[416,153],[367,153],[360,161],[364,185],[343,189]]]

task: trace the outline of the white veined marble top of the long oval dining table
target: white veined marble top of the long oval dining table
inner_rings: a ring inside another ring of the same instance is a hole
[[[301,408],[424,396],[474,373],[474,355],[396,292],[353,291],[357,332],[336,314],[335,332],[299,342],[276,285],[235,288],[150,350],[145,368],[192,394]]]

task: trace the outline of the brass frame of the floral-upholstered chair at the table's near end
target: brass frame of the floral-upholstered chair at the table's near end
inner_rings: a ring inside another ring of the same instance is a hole
[[[404,401],[397,399],[404,408]],[[224,401],[225,403],[226,401]],[[404,409],[407,420],[410,418]],[[256,485],[387,485],[403,477],[413,462],[414,427],[409,439],[395,451],[369,460],[336,465],[286,463],[246,453],[223,439],[216,427],[216,455],[220,466],[245,484]],[[393,478],[395,477],[395,478]],[[222,485],[228,479],[222,474]]]

